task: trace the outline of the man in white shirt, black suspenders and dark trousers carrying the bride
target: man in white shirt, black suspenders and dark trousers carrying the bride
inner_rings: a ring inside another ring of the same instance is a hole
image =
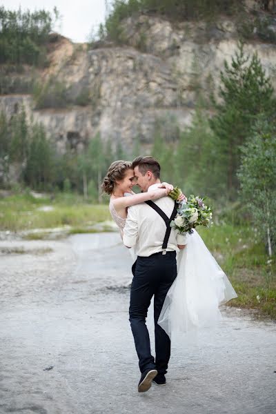
[[[137,186],[146,192],[160,184],[160,165],[152,157],[137,157],[132,162]],[[130,326],[139,358],[141,379],[139,393],[148,391],[152,380],[166,385],[165,374],[170,359],[170,338],[157,324],[166,294],[177,277],[176,253],[185,247],[185,238],[170,228],[176,204],[170,197],[146,201],[128,208],[124,227],[124,244],[135,246],[137,262],[132,266],[130,290]],[[166,221],[165,221],[166,220]],[[150,353],[146,316],[154,296],[155,358]]]

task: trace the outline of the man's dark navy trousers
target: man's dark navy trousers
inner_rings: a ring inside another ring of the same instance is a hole
[[[135,340],[141,373],[157,369],[166,374],[170,359],[170,338],[157,324],[166,294],[177,277],[176,253],[155,253],[149,257],[137,257],[130,290],[130,326]],[[155,358],[150,352],[150,337],[146,317],[150,300],[154,297]]]

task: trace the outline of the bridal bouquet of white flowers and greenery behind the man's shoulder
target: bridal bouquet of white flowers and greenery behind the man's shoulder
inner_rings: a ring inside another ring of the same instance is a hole
[[[177,200],[179,188],[175,187],[169,197]],[[187,201],[179,203],[177,215],[171,221],[170,226],[176,228],[179,233],[193,233],[193,228],[197,226],[209,227],[212,222],[212,209],[204,204],[204,198],[190,195]]]

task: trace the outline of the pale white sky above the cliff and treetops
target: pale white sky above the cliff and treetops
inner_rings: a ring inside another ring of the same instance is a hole
[[[75,42],[88,41],[92,30],[95,32],[106,16],[105,0],[0,0],[0,6],[7,10],[18,10],[21,6],[21,10],[51,12],[56,6],[61,23],[55,31]]]

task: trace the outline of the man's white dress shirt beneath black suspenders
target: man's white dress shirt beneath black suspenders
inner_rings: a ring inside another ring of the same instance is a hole
[[[156,186],[156,184],[154,184]],[[153,186],[150,186],[153,188]],[[170,217],[174,201],[170,197],[162,197],[154,201],[164,213]],[[128,217],[124,226],[124,245],[134,247],[138,256],[150,256],[162,250],[166,234],[164,219],[146,203],[128,207]],[[186,244],[186,236],[172,228],[168,239],[167,251],[179,251],[177,244]]]

